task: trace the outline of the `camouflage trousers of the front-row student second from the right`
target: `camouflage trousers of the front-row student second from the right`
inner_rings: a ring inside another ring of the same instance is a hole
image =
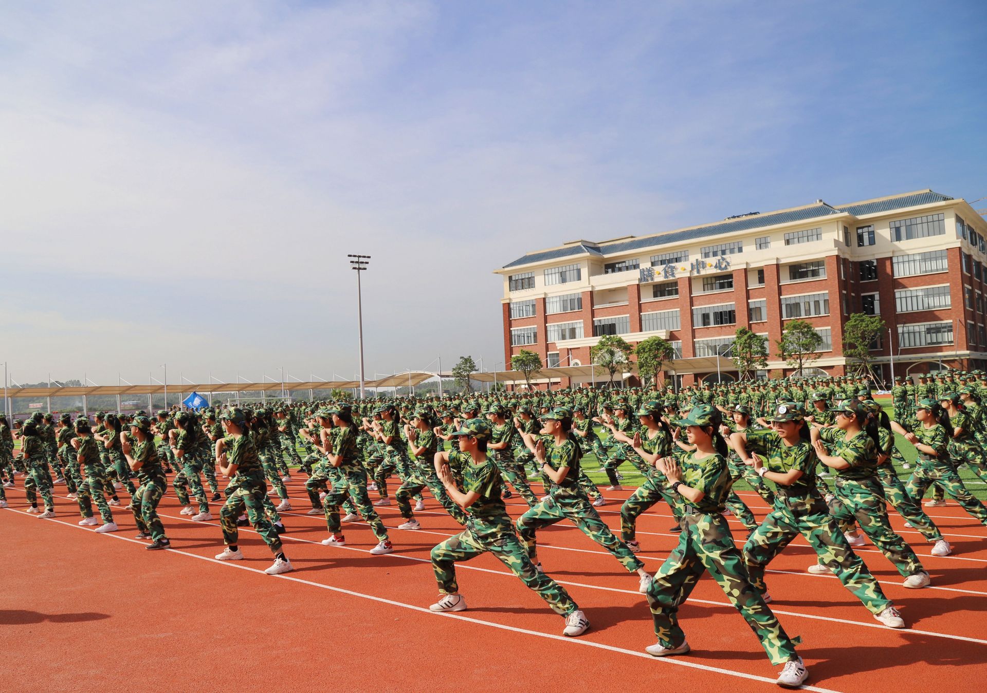
[[[500,531],[475,532],[467,527],[455,536],[438,544],[431,550],[432,570],[438,590],[443,594],[456,594],[456,563],[490,551],[507,569],[520,578],[528,589],[538,592],[545,602],[561,616],[568,616],[579,607],[561,585],[540,570],[528,558],[524,547],[514,533],[510,520],[505,518]]]

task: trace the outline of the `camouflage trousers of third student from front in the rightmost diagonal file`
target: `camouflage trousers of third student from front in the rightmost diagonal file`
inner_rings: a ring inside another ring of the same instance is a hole
[[[836,497],[829,508],[830,514],[841,526],[857,520],[873,545],[894,564],[898,573],[908,577],[925,572],[915,552],[891,528],[884,490],[875,476],[859,480],[836,477]]]

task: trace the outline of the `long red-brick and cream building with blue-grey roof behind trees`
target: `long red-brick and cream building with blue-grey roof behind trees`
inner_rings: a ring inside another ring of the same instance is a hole
[[[588,365],[600,335],[632,344],[658,335],[673,343],[670,370],[682,383],[715,380],[717,365],[727,380],[736,373],[723,357],[745,326],[769,339],[759,376],[788,376],[775,341],[800,318],[823,339],[805,375],[843,375],[841,335],[853,312],[879,313],[890,327],[873,348],[884,378],[892,361],[904,375],[984,368],[987,359],[987,223],[964,200],[932,190],[572,241],[495,273],[505,361],[527,349],[547,367]]]

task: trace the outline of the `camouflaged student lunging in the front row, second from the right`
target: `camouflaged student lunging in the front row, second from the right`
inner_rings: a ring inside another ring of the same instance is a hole
[[[455,432],[462,437],[460,449],[469,458],[463,464],[463,490],[456,488],[447,464],[436,455],[436,472],[449,497],[467,516],[466,529],[431,550],[432,568],[438,583],[439,599],[429,606],[432,611],[464,611],[466,600],[459,593],[455,564],[490,551],[528,588],[545,599],[552,610],[566,618],[564,635],[581,635],[589,621],[565,588],[538,570],[528,558],[514,533],[514,524],[500,499],[500,473],[487,456],[491,426],[482,419],[464,421]]]

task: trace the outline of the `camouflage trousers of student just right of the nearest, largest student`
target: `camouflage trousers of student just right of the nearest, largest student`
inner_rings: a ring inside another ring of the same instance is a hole
[[[852,591],[871,613],[878,614],[891,605],[867,564],[850,548],[836,520],[827,513],[821,498],[806,503],[779,497],[774,510],[747,539],[743,557],[754,589],[762,594],[767,591],[765,569],[799,534],[815,551],[819,563],[832,570],[843,587]]]

